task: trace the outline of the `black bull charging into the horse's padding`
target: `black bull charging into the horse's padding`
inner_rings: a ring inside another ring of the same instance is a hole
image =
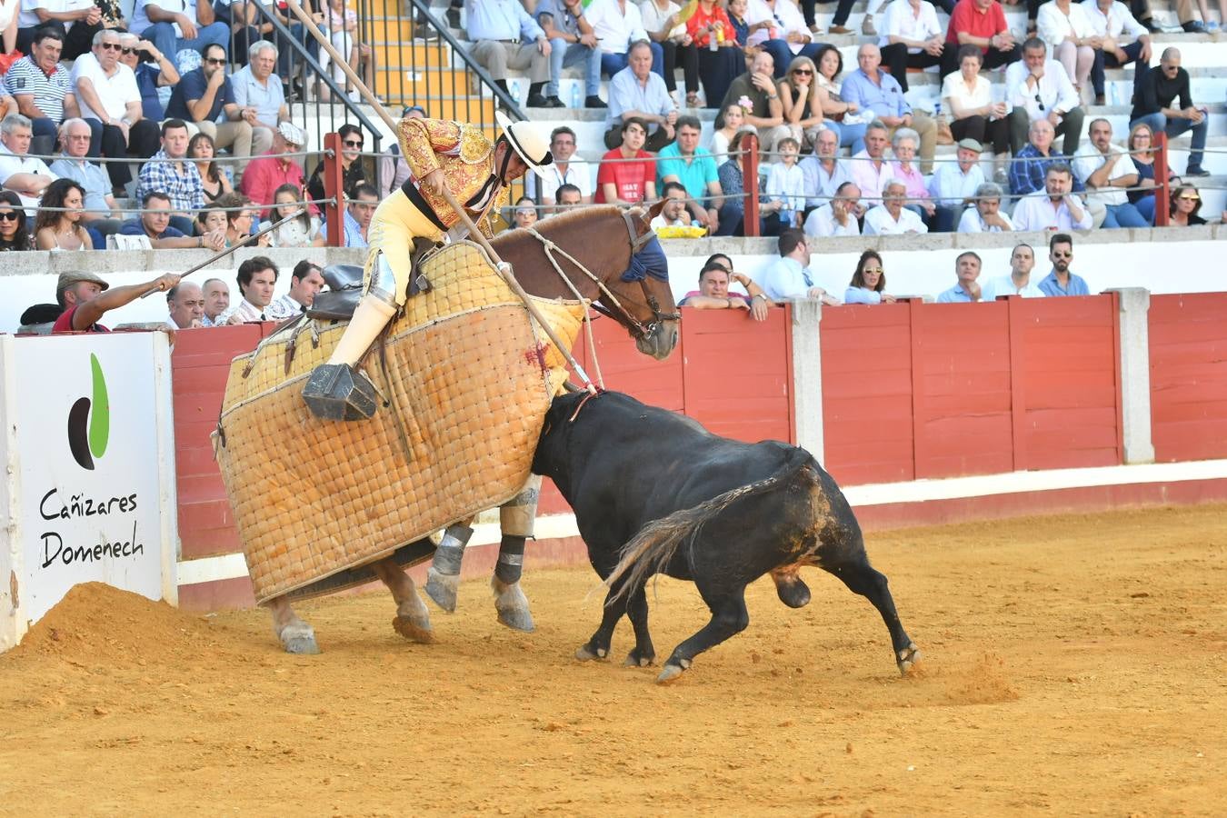
[[[746,585],[763,574],[773,574],[785,603],[809,602],[796,576],[805,565],[834,574],[874,603],[901,672],[920,657],[886,576],[869,564],[848,500],[804,449],[720,438],[620,392],[575,392],[551,405],[533,471],[553,480],[571,503],[593,568],[609,586],[601,624],[579,659],[607,656],[625,613],[636,638],[627,663],[650,665],[647,580],[658,573],[692,580],[712,619],[674,649],[659,677],[667,682],[746,628]]]

